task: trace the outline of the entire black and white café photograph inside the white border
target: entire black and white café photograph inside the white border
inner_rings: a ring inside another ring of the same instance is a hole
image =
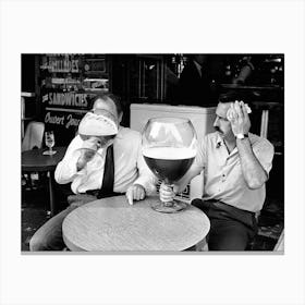
[[[284,54],[21,57],[22,252],[284,251]]]

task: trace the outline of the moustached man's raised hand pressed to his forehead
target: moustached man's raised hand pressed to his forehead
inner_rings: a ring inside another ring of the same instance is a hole
[[[232,132],[235,136],[248,133],[251,121],[248,110],[243,101],[235,100],[235,102],[232,102],[227,112],[227,118],[231,122]]]

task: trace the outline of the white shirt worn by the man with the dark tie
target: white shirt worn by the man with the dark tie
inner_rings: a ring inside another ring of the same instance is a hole
[[[77,172],[76,162],[80,157],[77,149],[83,147],[83,143],[84,141],[80,135],[73,138],[66,149],[65,156],[58,163],[54,172],[54,178],[58,183],[65,184],[72,182],[71,188],[75,194],[99,190],[102,184],[107,149],[98,149],[98,155],[84,169]],[[157,179],[143,158],[141,133],[120,126],[113,143],[113,192],[125,193],[132,184],[141,184],[145,188],[146,194],[155,191]]]

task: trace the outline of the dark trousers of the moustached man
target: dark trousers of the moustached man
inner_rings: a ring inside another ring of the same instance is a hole
[[[192,205],[210,220],[209,251],[245,251],[257,233],[255,213],[217,200],[194,199]]]

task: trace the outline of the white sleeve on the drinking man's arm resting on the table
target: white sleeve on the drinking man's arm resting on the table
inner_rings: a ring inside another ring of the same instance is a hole
[[[142,144],[141,144],[141,137],[137,143],[137,170],[138,170],[138,176],[134,181],[133,184],[139,184],[145,188],[145,192],[147,195],[154,193],[156,191],[156,184],[158,182],[158,179],[155,176],[155,174],[149,170],[148,166],[146,164],[143,154],[142,154]]]

